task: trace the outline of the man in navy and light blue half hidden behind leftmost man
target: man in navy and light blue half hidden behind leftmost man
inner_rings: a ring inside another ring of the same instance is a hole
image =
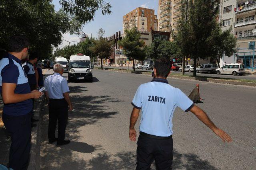
[[[37,59],[38,59],[38,54],[35,53],[35,52],[32,52],[32,53],[29,54],[28,61],[26,61],[23,64],[23,68],[25,70],[25,73],[28,76],[28,84],[30,86],[31,91],[36,90],[37,85],[38,85],[38,81],[37,81],[38,78],[36,78],[36,70],[34,68],[34,64],[36,64]],[[37,72],[37,74],[38,74],[38,72]],[[36,121],[38,121],[38,119],[33,118],[33,115],[34,115],[34,99],[32,99],[32,101],[33,101],[33,108],[32,108],[31,121],[36,122]],[[32,126],[36,126],[36,124],[32,124]]]

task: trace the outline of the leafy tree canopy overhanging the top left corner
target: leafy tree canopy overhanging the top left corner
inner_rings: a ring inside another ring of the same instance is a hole
[[[52,45],[62,43],[63,33],[80,34],[83,24],[93,19],[96,10],[111,13],[111,5],[103,0],[59,2],[62,9],[56,12],[52,0],[1,0],[0,48],[6,49],[8,37],[25,35],[30,40],[30,51],[37,51],[42,59],[48,58]]]

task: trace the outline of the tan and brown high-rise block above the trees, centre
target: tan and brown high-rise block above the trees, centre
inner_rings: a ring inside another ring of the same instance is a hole
[[[135,26],[139,31],[150,31],[151,27],[157,30],[158,20],[155,10],[139,7],[123,17],[123,32]]]

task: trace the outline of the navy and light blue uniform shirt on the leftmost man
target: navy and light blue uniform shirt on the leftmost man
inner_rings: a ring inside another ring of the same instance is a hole
[[[2,83],[17,84],[14,90],[16,94],[30,93],[28,78],[22,68],[20,59],[13,55],[0,61],[0,92],[2,94]],[[14,104],[4,104],[3,113],[6,115],[26,115],[32,111],[32,99]]]

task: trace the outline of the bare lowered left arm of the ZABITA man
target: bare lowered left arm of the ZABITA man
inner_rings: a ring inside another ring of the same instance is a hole
[[[136,137],[137,137],[134,126],[135,126],[135,124],[138,120],[139,114],[140,114],[140,109],[136,109],[135,107],[133,107],[132,114],[131,114],[131,117],[130,117],[129,138],[130,138],[131,141],[134,141],[134,142],[136,141]]]

